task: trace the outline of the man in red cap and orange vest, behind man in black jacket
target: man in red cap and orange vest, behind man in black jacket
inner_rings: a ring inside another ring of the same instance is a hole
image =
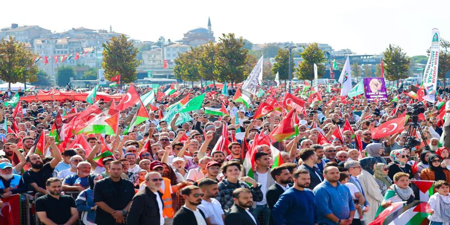
[[[161,163],[160,161],[153,161],[150,163],[150,170],[152,172],[159,172],[161,175],[164,172],[164,166],[163,163]],[[172,186],[170,185],[170,179],[162,177],[163,178],[163,182],[161,184],[161,188],[159,189],[159,191],[161,193],[163,193],[163,202],[164,202],[164,207],[163,207],[163,218],[164,218],[164,222],[165,224],[172,224],[173,221],[173,216],[175,215],[175,210],[173,209],[172,206]],[[145,187],[144,185],[141,186]]]

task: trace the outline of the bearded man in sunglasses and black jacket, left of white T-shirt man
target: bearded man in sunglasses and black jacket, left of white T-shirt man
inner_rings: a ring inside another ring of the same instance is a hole
[[[204,194],[199,187],[190,185],[181,190],[185,205],[173,217],[173,225],[206,225],[205,214],[197,209]]]

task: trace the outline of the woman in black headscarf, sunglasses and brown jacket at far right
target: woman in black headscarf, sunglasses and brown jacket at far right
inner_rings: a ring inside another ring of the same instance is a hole
[[[428,168],[422,170],[421,179],[424,181],[450,181],[450,171],[441,167],[441,158],[438,154],[428,156]]]

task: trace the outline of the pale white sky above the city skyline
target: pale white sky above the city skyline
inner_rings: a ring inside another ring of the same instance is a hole
[[[106,29],[132,39],[181,40],[188,30],[207,28],[216,41],[235,33],[252,43],[328,43],[334,50],[379,54],[389,44],[408,56],[425,55],[433,28],[450,39],[447,1],[2,1],[0,27],[38,25],[52,32]],[[22,6],[20,9],[16,9]],[[24,7],[25,6],[25,7]]]

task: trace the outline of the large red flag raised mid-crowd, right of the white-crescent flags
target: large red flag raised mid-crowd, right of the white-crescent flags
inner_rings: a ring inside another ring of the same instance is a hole
[[[280,124],[269,134],[269,139],[272,142],[281,142],[282,140],[298,135],[299,122],[296,110],[290,110]]]

